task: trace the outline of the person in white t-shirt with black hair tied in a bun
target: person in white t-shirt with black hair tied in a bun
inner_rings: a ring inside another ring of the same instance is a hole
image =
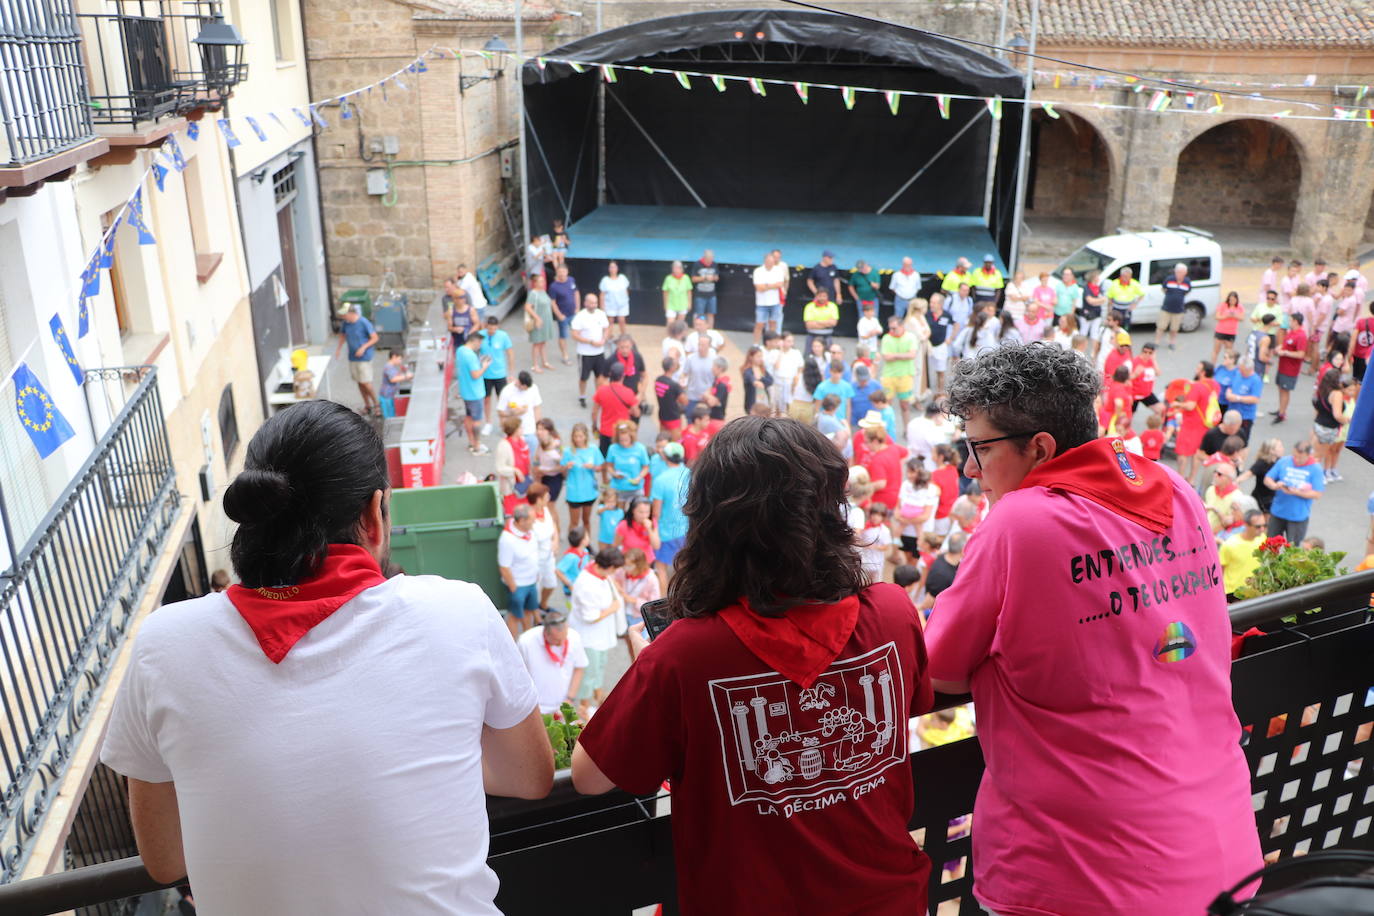
[[[143,621],[100,754],[148,873],[206,913],[499,916],[484,788],[543,798],[554,759],[496,608],[382,575],[386,457],[346,407],[271,417],[223,499],[242,584]]]

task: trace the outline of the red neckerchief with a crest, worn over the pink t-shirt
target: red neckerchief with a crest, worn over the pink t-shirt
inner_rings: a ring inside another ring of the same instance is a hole
[[[1173,525],[1173,485],[1154,461],[1132,461],[1120,438],[1094,439],[1026,474],[1017,489],[1043,486],[1092,500],[1162,534]]]

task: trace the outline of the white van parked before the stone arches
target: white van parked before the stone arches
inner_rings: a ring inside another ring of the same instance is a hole
[[[1173,265],[1184,264],[1193,291],[1183,312],[1184,331],[1197,331],[1221,301],[1221,246],[1209,232],[1191,227],[1151,232],[1121,232],[1094,239],[1065,258],[1055,271],[1073,271],[1079,283],[1088,271],[1102,271],[1102,284],[1114,280],[1121,268],[1131,268],[1145,286],[1145,301],[1135,306],[1132,324],[1154,324],[1164,305],[1164,280],[1173,275]]]

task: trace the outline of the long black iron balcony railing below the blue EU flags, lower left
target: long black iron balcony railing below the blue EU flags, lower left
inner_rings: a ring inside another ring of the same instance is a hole
[[[155,369],[91,369],[84,387],[103,433],[0,575],[0,883],[23,867],[180,509]]]

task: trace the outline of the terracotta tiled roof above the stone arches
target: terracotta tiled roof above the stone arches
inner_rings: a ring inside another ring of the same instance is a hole
[[[1029,34],[1033,0],[1011,0]],[[1374,47],[1370,0],[1040,0],[1039,40],[1194,48]]]

